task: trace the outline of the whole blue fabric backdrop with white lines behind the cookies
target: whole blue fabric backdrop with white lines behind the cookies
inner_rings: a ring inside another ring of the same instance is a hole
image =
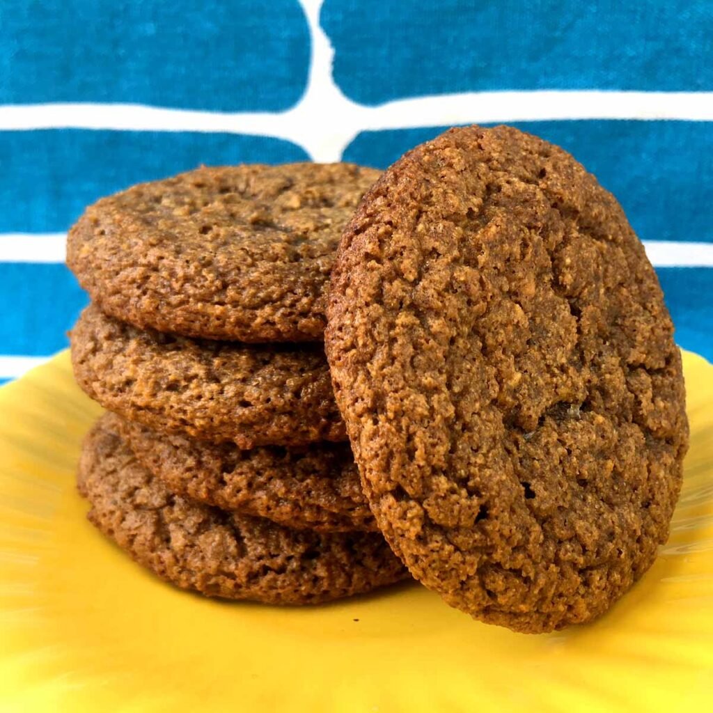
[[[617,195],[713,359],[710,0],[2,0],[0,379],[66,347],[83,207],[200,163],[386,167],[511,123]]]

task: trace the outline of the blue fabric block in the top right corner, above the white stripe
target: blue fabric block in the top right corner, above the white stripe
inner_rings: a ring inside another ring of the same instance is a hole
[[[710,0],[325,0],[334,76],[364,104],[498,89],[713,88]]]

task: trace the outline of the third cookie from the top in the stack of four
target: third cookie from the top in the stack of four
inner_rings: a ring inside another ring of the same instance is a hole
[[[101,427],[118,433],[173,493],[298,530],[376,530],[348,443],[241,451],[234,443],[159,434],[116,414],[105,414]]]

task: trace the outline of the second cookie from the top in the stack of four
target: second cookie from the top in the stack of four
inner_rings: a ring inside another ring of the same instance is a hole
[[[77,383],[158,431],[239,448],[344,441],[322,344],[211,342],[136,329],[95,306],[71,333]]]

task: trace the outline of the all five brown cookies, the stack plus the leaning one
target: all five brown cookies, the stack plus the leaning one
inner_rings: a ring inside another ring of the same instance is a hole
[[[404,563],[484,622],[588,622],[667,540],[687,450],[641,242],[513,128],[376,179],[200,169],[86,212],[73,363],[111,411],[80,463],[91,518],[209,595],[317,602]]]

